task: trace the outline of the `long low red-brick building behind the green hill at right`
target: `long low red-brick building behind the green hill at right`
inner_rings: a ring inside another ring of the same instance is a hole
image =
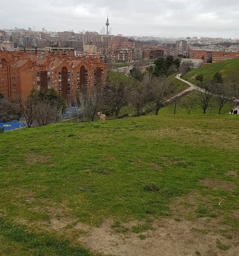
[[[205,51],[205,50],[191,50],[190,58],[191,59],[202,59],[204,57],[203,62],[207,62],[208,60],[212,60],[212,63],[218,61],[224,61],[229,59],[234,59],[239,57],[238,52],[220,52],[220,51]]]

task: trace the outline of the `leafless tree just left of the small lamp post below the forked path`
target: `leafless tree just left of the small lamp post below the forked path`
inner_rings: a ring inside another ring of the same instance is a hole
[[[199,105],[199,107],[203,110],[203,113],[205,114],[209,101],[213,97],[213,94],[215,92],[215,86],[212,81],[209,81],[202,84],[201,87],[202,88],[196,88],[197,97],[195,98],[195,102]]]

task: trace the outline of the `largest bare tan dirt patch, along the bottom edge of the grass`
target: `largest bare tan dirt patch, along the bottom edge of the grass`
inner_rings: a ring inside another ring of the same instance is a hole
[[[138,238],[139,234],[130,231],[135,222],[123,224],[129,228],[126,234],[115,233],[111,228],[112,224],[112,220],[106,220],[100,227],[78,223],[75,229],[84,232],[79,234],[77,240],[88,250],[101,255],[193,256],[195,251],[199,251],[200,255],[205,256],[212,256],[211,253],[215,256],[236,256],[235,245],[225,252],[220,250],[216,247],[218,234],[200,234],[192,231],[195,224],[190,221],[155,220],[152,223],[155,230],[140,233],[145,235],[144,240]],[[220,237],[220,240],[224,239]]]

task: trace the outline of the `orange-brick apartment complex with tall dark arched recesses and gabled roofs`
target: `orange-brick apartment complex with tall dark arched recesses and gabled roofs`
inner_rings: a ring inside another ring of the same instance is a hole
[[[64,99],[74,93],[93,91],[105,85],[107,66],[96,54],[79,57],[46,52],[39,58],[24,52],[0,51],[0,93],[14,100],[21,95],[27,99],[32,89],[54,88]]]

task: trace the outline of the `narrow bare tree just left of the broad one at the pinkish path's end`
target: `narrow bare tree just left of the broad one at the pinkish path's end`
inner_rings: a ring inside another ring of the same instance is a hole
[[[140,110],[149,102],[148,87],[151,76],[148,73],[144,74],[142,81],[135,81],[131,88],[129,96],[129,104],[136,108],[137,116]]]

